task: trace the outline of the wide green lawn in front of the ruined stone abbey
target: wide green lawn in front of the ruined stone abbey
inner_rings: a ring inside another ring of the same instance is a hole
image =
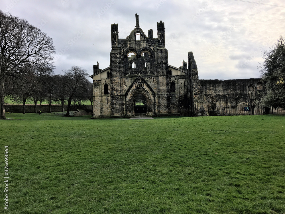
[[[285,213],[284,116],[6,117],[0,213]]]

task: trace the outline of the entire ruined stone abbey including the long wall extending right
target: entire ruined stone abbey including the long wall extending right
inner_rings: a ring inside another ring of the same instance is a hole
[[[119,39],[111,25],[110,66],[93,66],[93,118],[134,116],[207,116],[213,105],[253,103],[264,92],[260,79],[199,80],[192,52],[179,68],[168,64],[164,22],[157,38],[139,26]]]

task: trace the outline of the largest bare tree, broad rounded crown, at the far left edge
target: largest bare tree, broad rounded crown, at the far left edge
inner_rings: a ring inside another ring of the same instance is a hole
[[[25,19],[0,10],[0,119],[6,119],[4,80],[25,71],[24,66],[52,67],[52,39]]]

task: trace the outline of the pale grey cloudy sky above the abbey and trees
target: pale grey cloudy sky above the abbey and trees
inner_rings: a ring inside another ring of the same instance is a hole
[[[258,78],[262,51],[285,37],[285,2],[278,0],[1,0],[0,9],[53,39],[55,73],[78,65],[91,75],[97,61],[108,67],[111,24],[125,39],[136,13],[154,37],[157,22],[165,23],[168,63],[179,67],[192,51],[200,79]]]

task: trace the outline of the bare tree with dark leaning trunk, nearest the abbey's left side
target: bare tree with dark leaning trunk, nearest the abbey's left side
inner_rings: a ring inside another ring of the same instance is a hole
[[[66,76],[65,86],[68,95],[68,106],[65,116],[68,117],[72,98],[76,93],[82,90],[82,88],[86,88],[88,74],[83,68],[75,65],[69,70],[64,71],[64,74]]]

